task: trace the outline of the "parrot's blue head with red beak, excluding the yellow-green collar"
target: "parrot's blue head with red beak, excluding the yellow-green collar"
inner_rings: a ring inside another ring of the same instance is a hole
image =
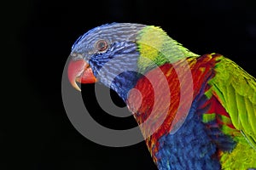
[[[73,44],[68,68],[73,86],[78,88],[75,81],[102,82],[125,100],[137,82],[137,36],[144,27],[113,23],[98,26],[79,37]]]

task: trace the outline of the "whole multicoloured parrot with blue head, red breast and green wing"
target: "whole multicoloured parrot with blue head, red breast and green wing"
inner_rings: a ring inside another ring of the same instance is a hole
[[[84,33],[69,57],[73,88],[102,83],[124,100],[158,169],[256,169],[256,82],[231,59],[116,22]]]

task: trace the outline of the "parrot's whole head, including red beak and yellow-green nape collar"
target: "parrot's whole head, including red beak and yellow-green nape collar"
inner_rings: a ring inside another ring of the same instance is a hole
[[[132,23],[98,26],[73,44],[68,79],[78,90],[77,82],[102,82],[125,100],[146,71],[175,61],[184,53],[189,52],[156,26]]]

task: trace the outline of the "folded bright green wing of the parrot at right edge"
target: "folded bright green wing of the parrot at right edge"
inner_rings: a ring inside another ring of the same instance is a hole
[[[209,82],[234,127],[256,150],[256,82],[255,78],[230,59],[221,56],[216,76]]]

